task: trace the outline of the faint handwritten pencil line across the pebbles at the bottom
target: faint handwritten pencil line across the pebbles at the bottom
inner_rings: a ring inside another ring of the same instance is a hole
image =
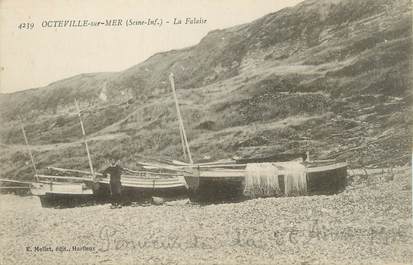
[[[267,249],[286,245],[311,244],[316,241],[349,241],[363,239],[370,244],[389,245],[393,242],[407,241],[407,235],[402,228],[377,228],[361,229],[344,227],[334,232],[320,224],[318,220],[311,221],[303,228],[291,227],[273,231],[255,231],[235,229],[225,237],[218,239],[216,236],[205,236],[193,232],[180,237],[170,234],[148,235],[144,238],[125,237],[128,234],[123,226],[105,225],[100,229],[98,251],[111,250],[137,250],[137,249],[218,249],[222,247],[260,248]]]

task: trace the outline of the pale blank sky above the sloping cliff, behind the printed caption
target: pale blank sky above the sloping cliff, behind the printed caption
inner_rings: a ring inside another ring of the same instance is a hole
[[[301,1],[0,0],[0,93],[42,87],[81,73],[122,71],[157,52],[195,45],[211,30],[251,22]],[[130,19],[148,18],[162,19],[163,24],[125,25]],[[174,24],[175,18],[182,24]],[[184,24],[186,18],[206,23]],[[122,25],[42,26],[107,19],[121,19]]]

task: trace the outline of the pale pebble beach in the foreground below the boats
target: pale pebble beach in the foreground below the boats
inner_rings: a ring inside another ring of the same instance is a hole
[[[42,208],[0,195],[0,264],[412,264],[411,173],[332,196]]]

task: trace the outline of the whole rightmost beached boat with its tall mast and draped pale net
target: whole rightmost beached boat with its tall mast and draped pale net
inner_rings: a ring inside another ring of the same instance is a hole
[[[309,162],[309,154],[275,154],[266,158],[218,161],[204,164],[192,162],[173,75],[171,87],[176,104],[181,141],[190,169],[185,180],[192,201],[226,201],[268,196],[332,194],[344,190],[347,163],[336,161]]]

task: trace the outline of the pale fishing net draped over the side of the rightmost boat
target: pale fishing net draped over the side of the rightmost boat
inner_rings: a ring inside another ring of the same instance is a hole
[[[245,196],[291,196],[302,195],[306,191],[306,168],[298,161],[250,163],[246,166]]]

